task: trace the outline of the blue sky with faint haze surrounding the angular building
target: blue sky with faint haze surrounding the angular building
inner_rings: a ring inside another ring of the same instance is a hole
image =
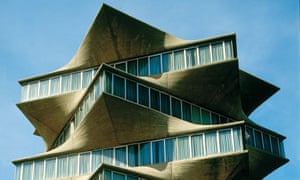
[[[287,137],[290,162],[266,179],[300,179],[298,0],[111,0],[107,4],[183,39],[236,32],[240,69],[281,90],[250,118]],[[72,58],[103,1],[1,0],[0,179],[13,179],[12,160],[44,151],[16,107],[18,80],[51,72]]]

